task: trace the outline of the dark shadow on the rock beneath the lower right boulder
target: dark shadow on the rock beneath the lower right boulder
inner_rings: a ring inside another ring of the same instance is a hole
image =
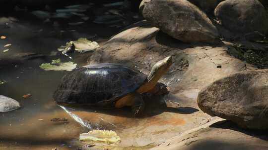
[[[244,134],[247,134],[247,135],[250,135],[250,136],[253,136],[253,137],[257,137],[257,138],[260,138],[260,139],[265,140],[265,141],[268,141],[268,137],[267,137],[268,130],[261,131],[261,130],[243,129],[243,128],[237,126],[234,122],[232,122],[230,120],[219,121],[219,122],[216,122],[216,123],[210,125],[209,127],[221,128],[221,129],[230,129],[230,130],[242,132]],[[237,150],[240,150],[240,149],[237,149]],[[248,149],[246,149],[246,150],[248,150]]]

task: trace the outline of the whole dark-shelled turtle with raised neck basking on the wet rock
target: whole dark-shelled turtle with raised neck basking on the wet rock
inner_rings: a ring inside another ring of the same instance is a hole
[[[161,84],[158,80],[171,65],[172,57],[168,56],[158,61],[149,75],[120,64],[76,68],[63,76],[53,98],[57,103],[101,108],[129,106],[132,113],[138,115],[144,110],[142,94],[159,92]]]

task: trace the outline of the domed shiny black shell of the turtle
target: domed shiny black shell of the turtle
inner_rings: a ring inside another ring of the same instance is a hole
[[[53,98],[58,103],[110,104],[134,92],[147,75],[119,64],[95,64],[77,68],[61,80]]]

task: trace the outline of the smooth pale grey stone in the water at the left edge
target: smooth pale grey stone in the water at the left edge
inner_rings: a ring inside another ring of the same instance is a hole
[[[9,112],[20,108],[19,102],[9,97],[0,95],[0,112]]]

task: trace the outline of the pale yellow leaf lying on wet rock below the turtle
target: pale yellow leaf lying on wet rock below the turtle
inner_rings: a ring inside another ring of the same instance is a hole
[[[79,136],[80,141],[95,141],[95,142],[107,142],[108,144],[116,143],[120,141],[120,137],[115,131],[108,130],[92,130],[88,133],[82,133]]]

